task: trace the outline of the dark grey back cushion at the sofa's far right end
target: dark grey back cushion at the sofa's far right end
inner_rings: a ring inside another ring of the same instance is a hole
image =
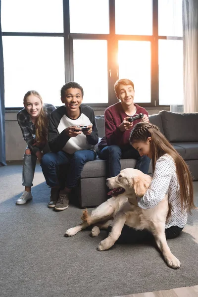
[[[198,113],[162,110],[164,135],[170,142],[198,142]]]

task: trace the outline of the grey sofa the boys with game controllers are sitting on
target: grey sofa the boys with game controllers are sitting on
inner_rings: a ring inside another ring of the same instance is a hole
[[[173,147],[189,165],[194,180],[198,180],[198,113],[174,113],[160,111],[149,116],[150,123],[157,125]],[[96,116],[99,137],[104,135],[104,116]],[[134,168],[136,160],[121,159],[121,169]],[[152,173],[150,163],[149,174]],[[97,206],[107,197],[106,161],[96,158],[85,164],[78,187],[72,192],[80,207]]]

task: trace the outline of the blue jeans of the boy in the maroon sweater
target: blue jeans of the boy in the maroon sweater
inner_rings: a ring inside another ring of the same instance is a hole
[[[138,150],[130,145],[124,146],[123,148],[115,145],[106,146],[99,149],[98,155],[100,159],[107,160],[107,177],[113,177],[120,173],[120,159],[136,159],[137,163],[135,169],[139,169],[143,173],[148,174],[150,158],[148,158],[148,156],[141,157]]]

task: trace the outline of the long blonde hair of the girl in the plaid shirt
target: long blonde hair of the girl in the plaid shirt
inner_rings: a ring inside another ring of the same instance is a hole
[[[35,121],[35,130],[36,130],[35,134],[36,134],[36,141],[38,142],[38,144],[45,144],[48,141],[49,119],[46,111],[43,109],[43,99],[37,91],[28,91],[25,94],[23,99],[24,106],[26,104],[26,100],[28,96],[30,95],[34,95],[41,100],[42,107],[41,107],[39,116],[38,118],[36,118],[36,121]]]

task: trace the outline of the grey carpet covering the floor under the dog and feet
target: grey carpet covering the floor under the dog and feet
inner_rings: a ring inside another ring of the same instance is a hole
[[[113,297],[198,285],[198,211],[182,235],[169,240],[181,268],[166,266],[155,247],[115,245],[97,250],[90,231],[65,238],[81,222],[75,205],[56,212],[47,207],[49,188],[36,166],[33,200],[16,205],[23,187],[22,166],[0,167],[0,296]],[[198,182],[194,182],[198,205]]]

